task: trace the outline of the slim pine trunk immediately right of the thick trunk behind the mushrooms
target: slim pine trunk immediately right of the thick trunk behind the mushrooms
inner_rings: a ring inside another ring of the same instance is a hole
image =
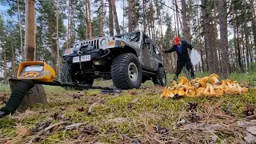
[[[234,54],[235,54],[235,65],[237,66],[237,70],[241,69],[241,59],[240,59],[240,55],[238,55],[238,53],[240,54],[239,50],[238,50],[238,41],[237,41],[237,22],[234,16],[234,0],[232,0],[232,17],[233,17],[233,32],[234,32]]]

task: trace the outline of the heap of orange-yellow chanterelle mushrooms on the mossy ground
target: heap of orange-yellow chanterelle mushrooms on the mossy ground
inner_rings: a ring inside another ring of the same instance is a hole
[[[175,95],[183,97],[219,97],[222,94],[246,94],[248,88],[240,86],[237,81],[226,79],[219,80],[217,74],[210,77],[194,78],[188,80],[180,77],[178,84],[172,81],[173,86],[166,86],[161,94],[161,98],[173,98]]]

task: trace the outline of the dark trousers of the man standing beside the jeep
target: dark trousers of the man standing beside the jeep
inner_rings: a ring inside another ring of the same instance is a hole
[[[177,70],[175,72],[176,78],[178,78],[178,75],[181,74],[183,66],[186,66],[186,70],[190,71],[191,78],[194,78],[194,69],[192,67],[192,63],[190,59],[187,59],[185,61],[182,61],[182,60],[177,61]]]

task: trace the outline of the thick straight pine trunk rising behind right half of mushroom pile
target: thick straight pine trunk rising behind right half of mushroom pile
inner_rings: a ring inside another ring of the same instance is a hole
[[[228,39],[227,39],[227,6],[226,0],[218,1],[219,26],[221,34],[222,46],[222,78],[227,78],[229,74],[229,55],[228,55]]]

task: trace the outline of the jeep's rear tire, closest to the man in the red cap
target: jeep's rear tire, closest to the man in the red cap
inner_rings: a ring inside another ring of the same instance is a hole
[[[154,85],[166,86],[166,72],[163,67],[159,67],[156,75],[152,78]]]

